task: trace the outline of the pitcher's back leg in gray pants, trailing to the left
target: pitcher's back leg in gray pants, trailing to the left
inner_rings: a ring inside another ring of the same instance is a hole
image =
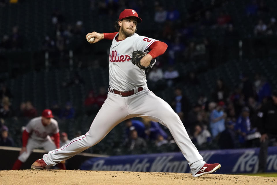
[[[83,136],[72,139],[68,145],[45,154],[43,156],[44,162],[48,166],[54,166],[60,161],[69,159],[87,148],[96,145],[113,127],[121,121],[124,121],[127,115],[125,100],[119,95],[109,93],[105,103],[93,120],[89,131]]]

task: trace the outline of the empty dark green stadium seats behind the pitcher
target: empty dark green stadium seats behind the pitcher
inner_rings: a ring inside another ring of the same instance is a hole
[[[180,20],[182,21],[188,19],[187,15],[191,8],[193,8],[194,2],[193,0],[160,1],[164,7],[175,6],[181,13]],[[266,58],[260,58],[259,54],[263,54],[263,50],[253,46],[253,42],[256,39],[253,29],[259,18],[263,18],[268,23],[271,17],[277,17],[277,12],[273,11],[271,14],[249,17],[246,14],[245,7],[251,2],[250,0],[228,1],[228,3],[215,7],[210,4],[210,1],[201,0],[199,2],[202,3],[202,14],[206,10],[209,10],[212,12],[214,19],[222,11],[229,13],[232,17],[232,24],[239,36],[237,40],[224,43],[226,41],[224,40],[225,29],[221,27],[204,27],[203,29],[194,30],[194,36],[191,39],[196,43],[203,42],[204,37],[216,43],[214,60],[218,61],[218,65],[214,69],[210,69],[205,55],[188,61],[184,61],[182,56],[177,56],[176,65],[181,78],[177,82],[177,86],[182,88],[184,95],[190,103],[194,104],[198,96],[203,92],[205,92],[208,99],[211,99],[216,79],[218,78],[222,78],[229,88],[234,88],[240,82],[239,76],[241,74],[248,74],[253,78],[255,73],[259,72],[265,74],[272,86],[276,87],[276,38],[263,38],[267,43],[268,55]],[[85,134],[96,116],[95,114],[86,115],[85,113],[84,101],[88,92],[94,90],[97,95],[98,89],[101,86],[104,86],[106,89],[108,88],[106,51],[109,49],[110,42],[101,42],[98,45],[86,45],[84,51],[78,52],[76,51],[78,49],[76,43],[80,38],[74,38],[71,45],[67,48],[72,49],[74,53],[73,70],[72,66],[69,66],[68,51],[65,52],[62,62],[57,62],[60,58],[57,53],[50,52],[50,68],[46,70],[42,40],[46,35],[53,36],[55,28],[52,25],[51,17],[55,10],[62,12],[65,17],[65,24],[75,25],[76,21],[83,21],[85,32],[93,30],[98,32],[113,32],[113,24],[117,16],[111,17],[101,14],[97,9],[93,9],[89,3],[89,1],[73,0],[30,0],[28,3],[23,1],[18,4],[8,4],[8,8],[0,8],[0,39],[4,34],[10,34],[13,26],[18,25],[24,40],[23,49],[0,51],[0,79],[5,80],[14,95],[12,107],[18,109],[21,102],[30,100],[40,113],[44,108],[50,108],[53,101],[57,101],[61,107],[70,101],[76,110],[75,118],[71,120],[58,119],[60,130],[67,132],[70,139],[75,137],[77,131]],[[147,1],[147,4],[154,6],[154,0]],[[269,0],[267,5],[276,10],[277,1]],[[146,6],[146,8],[149,7]],[[139,13],[140,17],[143,18],[143,24],[139,25],[139,34],[146,34],[149,37],[155,36],[154,11],[141,11]],[[180,22],[174,24],[178,25]],[[199,23],[192,23],[192,26],[197,24]],[[244,53],[240,59],[238,57],[238,40],[243,41]],[[228,51],[235,54],[229,53],[229,55],[225,56],[226,53],[224,52],[226,51],[224,47],[228,47]],[[80,64],[81,67],[78,66],[79,63],[82,64]],[[165,62],[162,68],[167,69],[168,66],[169,64]],[[63,86],[63,82],[69,82],[74,77],[76,71],[80,74],[84,83]],[[182,82],[190,71],[197,74],[200,85],[192,86]],[[161,89],[157,88],[157,84],[149,82],[149,88],[150,90],[151,88],[155,89],[155,94],[167,102],[171,102],[174,97],[173,87]],[[20,118],[5,120],[10,129],[10,135],[15,139],[17,146],[20,146],[21,143],[21,127],[25,126],[27,121]],[[102,142],[89,149],[89,151],[103,154],[125,154],[125,151],[121,150],[124,141],[123,131],[124,125],[120,123]],[[154,143],[149,143],[149,145],[153,145],[149,152],[178,150],[174,144],[161,148],[154,147]]]

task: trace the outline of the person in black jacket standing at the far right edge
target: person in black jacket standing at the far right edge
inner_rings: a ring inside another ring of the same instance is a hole
[[[265,172],[269,139],[277,138],[277,90],[274,90],[272,93],[272,101],[267,102],[259,110],[257,114],[257,127],[261,133],[259,172]]]

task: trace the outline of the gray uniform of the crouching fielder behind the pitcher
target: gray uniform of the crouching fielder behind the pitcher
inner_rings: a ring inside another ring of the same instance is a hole
[[[51,123],[47,126],[42,125],[41,116],[31,119],[26,126],[26,131],[30,133],[26,146],[27,152],[23,152],[18,160],[26,162],[35,148],[43,148],[46,151],[56,149],[55,144],[49,135],[59,132],[58,122],[51,118]]]

